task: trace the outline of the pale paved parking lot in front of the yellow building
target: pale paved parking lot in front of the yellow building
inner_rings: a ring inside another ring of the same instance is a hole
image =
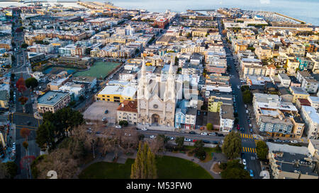
[[[84,111],[84,119],[102,121],[103,117],[106,117],[108,123],[114,124],[116,123],[116,109],[118,106],[119,103],[96,101]],[[105,110],[108,110],[107,114],[104,114]]]

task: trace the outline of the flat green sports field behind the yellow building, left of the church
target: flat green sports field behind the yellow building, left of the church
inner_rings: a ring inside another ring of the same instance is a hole
[[[113,69],[119,66],[116,62],[95,62],[87,71],[77,71],[74,76],[91,76],[105,78]]]

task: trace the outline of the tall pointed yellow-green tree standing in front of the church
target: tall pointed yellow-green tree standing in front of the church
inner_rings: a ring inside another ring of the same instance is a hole
[[[138,154],[131,166],[131,179],[155,179],[157,178],[157,168],[155,153],[152,153],[147,142],[138,145]]]

